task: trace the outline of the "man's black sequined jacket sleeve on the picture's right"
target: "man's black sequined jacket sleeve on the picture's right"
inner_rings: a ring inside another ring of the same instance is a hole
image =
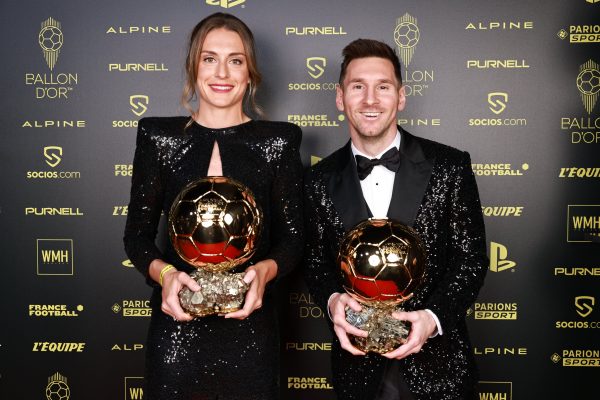
[[[450,189],[447,269],[424,308],[432,310],[444,331],[464,319],[487,272],[485,228],[477,183],[468,153],[462,153]]]

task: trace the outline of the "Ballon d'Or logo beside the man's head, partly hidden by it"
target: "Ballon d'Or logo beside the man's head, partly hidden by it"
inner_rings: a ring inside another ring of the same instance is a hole
[[[421,40],[421,29],[417,18],[405,13],[396,19],[393,31],[396,50],[402,60],[404,71],[402,80],[406,96],[423,96],[435,81],[433,70],[409,69],[415,55],[417,45]]]

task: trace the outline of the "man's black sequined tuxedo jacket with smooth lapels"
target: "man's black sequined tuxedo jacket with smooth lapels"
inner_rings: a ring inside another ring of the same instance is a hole
[[[465,315],[487,270],[485,230],[468,153],[401,133],[401,164],[394,179],[388,217],[417,230],[427,251],[427,277],[405,303],[407,310],[432,310],[443,335],[399,361],[415,398],[474,398],[477,371]],[[368,218],[350,142],[313,166],[304,183],[305,276],[326,310],[333,292],[344,292],[336,256],[348,230]],[[373,399],[387,359],[353,356],[334,334],[333,383],[340,400]],[[397,361],[396,361],[397,362]]]

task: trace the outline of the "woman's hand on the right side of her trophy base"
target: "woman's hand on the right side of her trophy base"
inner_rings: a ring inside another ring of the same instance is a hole
[[[275,260],[263,260],[248,267],[244,275],[244,282],[250,284],[250,288],[246,293],[244,307],[241,310],[225,314],[225,318],[245,319],[254,310],[261,308],[265,287],[276,276],[277,263]]]

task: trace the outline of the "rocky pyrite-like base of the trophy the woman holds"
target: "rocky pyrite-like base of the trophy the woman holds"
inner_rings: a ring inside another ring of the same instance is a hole
[[[212,314],[226,314],[242,308],[248,291],[248,284],[243,281],[244,273],[207,272],[198,269],[190,274],[200,290],[193,292],[184,287],[179,292],[179,300],[183,309],[194,317]]]

